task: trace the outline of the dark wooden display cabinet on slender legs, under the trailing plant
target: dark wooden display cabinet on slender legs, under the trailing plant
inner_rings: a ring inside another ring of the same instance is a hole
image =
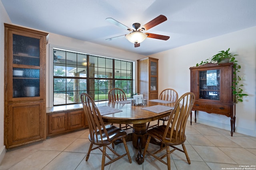
[[[232,94],[233,63],[207,63],[190,67],[190,91],[196,95],[192,110],[230,117],[231,136],[235,131],[235,102]],[[190,119],[192,123],[192,118]]]

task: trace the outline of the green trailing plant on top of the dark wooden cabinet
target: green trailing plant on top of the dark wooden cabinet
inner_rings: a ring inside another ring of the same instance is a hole
[[[229,53],[230,48],[226,51],[219,51],[218,54],[212,56],[210,59],[206,59],[205,61],[201,61],[201,63],[197,63],[196,66],[204,65],[206,63],[233,63],[234,68],[234,77],[232,82],[232,94],[234,95],[234,101],[236,103],[243,102],[243,96],[248,96],[248,94],[243,93],[242,86],[243,84],[240,84],[239,81],[242,80],[240,76],[237,74],[237,72],[240,72],[241,66],[237,63],[238,61],[234,56],[237,56],[236,54]],[[209,62],[210,61],[210,62]]]

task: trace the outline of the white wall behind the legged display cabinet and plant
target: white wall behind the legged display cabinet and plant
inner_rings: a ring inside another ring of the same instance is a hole
[[[256,136],[256,27],[150,55],[159,59],[158,91],[170,87],[176,89],[179,96],[190,91],[189,68],[228,48],[231,53],[238,54],[236,59],[242,66],[238,75],[246,76],[241,83],[245,85],[244,93],[249,94],[244,97],[244,102],[236,105],[236,132]],[[224,115],[199,111],[197,120],[230,130],[230,117]]]

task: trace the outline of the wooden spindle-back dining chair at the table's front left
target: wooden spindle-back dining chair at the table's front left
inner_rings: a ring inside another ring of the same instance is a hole
[[[90,152],[95,149],[100,149],[102,151],[102,162],[101,162],[101,169],[104,170],[104,167],[108,164],[111,164],[112,162],[124,157],[128,156],[129,162],[132,163],[132,159],[129,154],[128,147],[126,145],[125,137],[126,132],[122,129],[115,127],[113,125],[104,125],[104,122],[102,120],[102,117],[100,115],[100,112],[98,110],[98,107],[96,106],[94,100],[86,94],[82,93],[80,94],[81,102],[84,108],[84,113],[86,115],[86,118],[88,120],[89,124],[89,140],[91,142],[87,156],[86,161],[88,160],[90,156]],[[124,148],[126,150],[125,154],[119,155],[109,147],[108,145],[112,144],[114,145],[114,141],[122,139],[122,142],[124,143]],[[92,148],[93,145],[96,145],[96,147]],[[102,149],[103,147],[103,149]],[[109,156],[106,153],[106,148],[111,150],[117,157],[112,159],[113,156]],[[110,162],[105,164],[105,158],[108,157],[110,159]]]

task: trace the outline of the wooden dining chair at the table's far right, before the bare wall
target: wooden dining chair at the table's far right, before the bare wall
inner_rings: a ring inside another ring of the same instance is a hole
[[[170,101],[170,102],[176,102],[176,100],[178,100],[178,93],[176,92],[176,90],[174,90],[172,88],[166,88],[166,89],[162,90],[158,99],[159,100],[166,100],[166,101]],[[150,127],[159,126],[160,121],[163,121],[163,125],[164,125],[164,122],[168,121],[169,117],[170,116],[166,116],[166,117],[163,117],[161,119],[158,119],[157,124],[152,125],[152,126],[149,126],[150,122],[148,122],[147,129],[150,128]]]

